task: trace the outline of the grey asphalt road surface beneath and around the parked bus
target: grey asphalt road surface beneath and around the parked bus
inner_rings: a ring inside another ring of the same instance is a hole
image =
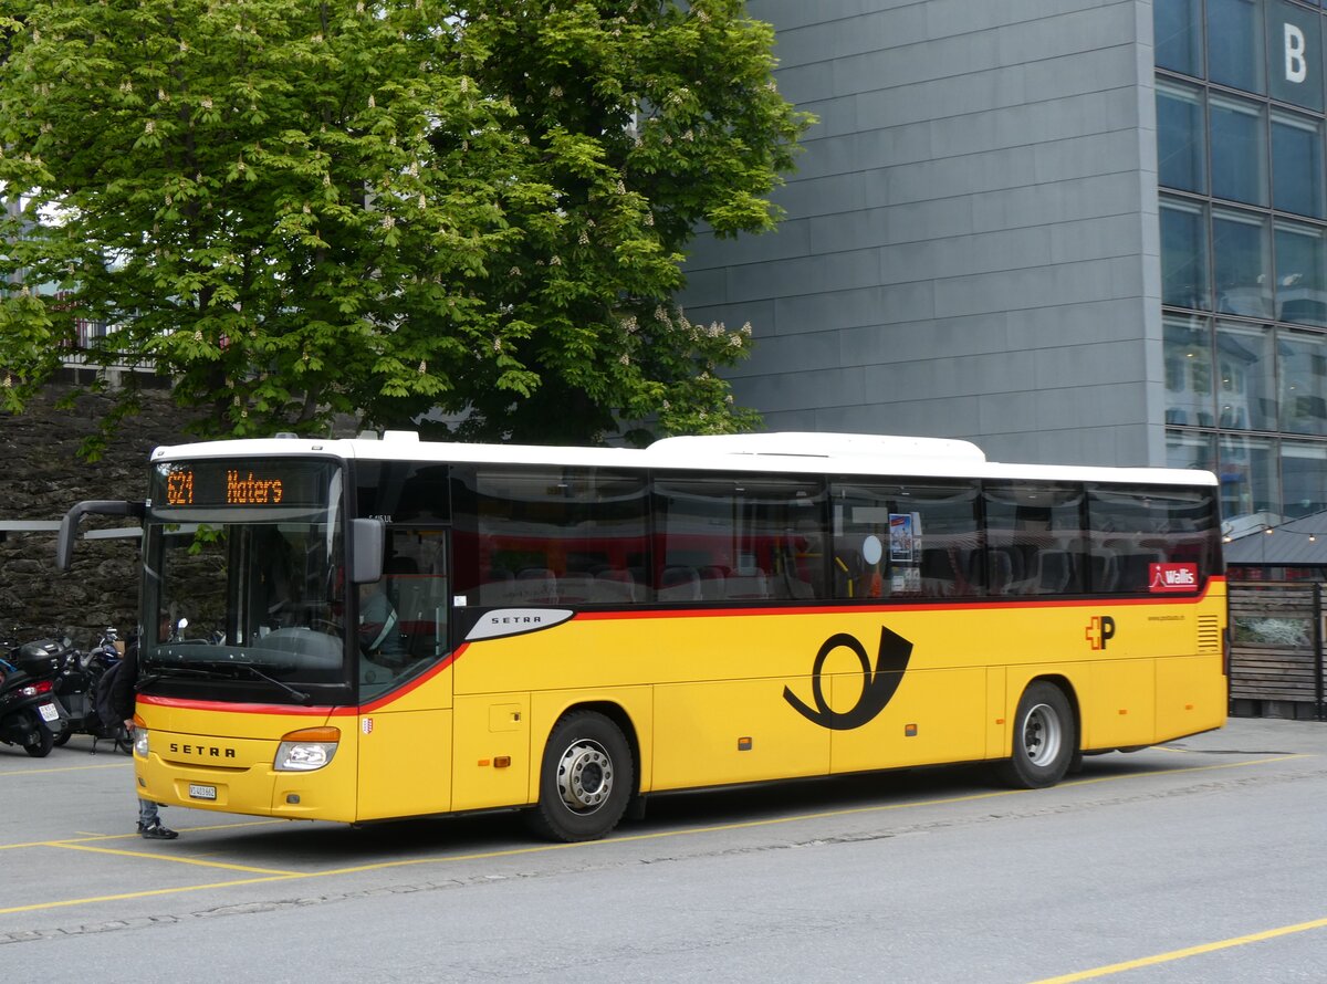
[[[1327,980],[1327,724],[1233,720],[1038,792],[978,769],[350,829],[170,809],[126,757],[0,745],[0,977]]]

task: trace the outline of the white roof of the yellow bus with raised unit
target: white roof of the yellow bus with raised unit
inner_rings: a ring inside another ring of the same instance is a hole
[[[975,444],[940,438],[874,434],[731,434],[665,438],[648,448],[544,447],[422,442],[411,431],[378,438],[259,438],[158,447],[151,460],[333,455],[365,461],[539,464],[670,471],[742,471],[791,475],[861,475],[1038,481],[1121,481],[1216,485],[1212,472],[1192,468],[1119,468],[987,461]]]

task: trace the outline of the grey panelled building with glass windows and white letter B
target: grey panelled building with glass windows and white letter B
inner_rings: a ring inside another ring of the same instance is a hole
[[[1204,467],[1227,517],[1327,508],[1316,3],[748,9],[819,123],[779,232],[702,236],[683,300],[752,324],[730,378],[770,430]]]

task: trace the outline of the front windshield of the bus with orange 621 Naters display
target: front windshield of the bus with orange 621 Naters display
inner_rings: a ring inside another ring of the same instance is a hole
[[[235,698],[276,703],[345,686],[341,471],[159,463],[153,485],[142,671],[182,687],[236,683]]]

